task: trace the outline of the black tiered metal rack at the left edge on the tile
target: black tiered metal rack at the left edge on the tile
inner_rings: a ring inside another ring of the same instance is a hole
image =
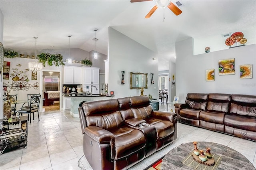
[[[0,119],[2,127],[0,133],[0,152],[4,153],[18,147],[26,147],[28,145],[28,127],[27,116],[12,118],[12,122],[4,122]],[[30,118],[31,119],[31,118]]]

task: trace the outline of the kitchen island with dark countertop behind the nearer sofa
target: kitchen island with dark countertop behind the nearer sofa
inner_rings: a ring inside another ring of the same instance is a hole
[[[62,94],[64,97],[70,97],[70,115],[73,117],[78,117],[78,107],[79,103],[86,101],[99,101],[113,99],[115,96],[106,96],[99,94],[86,95],[82,93],[65,93]]]

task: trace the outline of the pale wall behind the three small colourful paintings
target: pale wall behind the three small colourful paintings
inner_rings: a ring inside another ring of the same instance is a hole
[[[184,50],[186,49],[186,50]],[[193,55],[193,38],[176,43],[176,95],[229,93],[256,95],[256,44]],[[218,60],[235,58],[235,75],[219,75]],[[252,64],[252,79],[240,79],[239,65]],[[215,69],[215,81],[206,81],[206,69]]]

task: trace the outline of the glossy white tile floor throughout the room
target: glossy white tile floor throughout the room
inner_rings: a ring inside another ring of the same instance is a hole
[[[160,104],[162,111],[173,105]],[[78,160],[83,156],[83,140],[79,118],[69,112],[48,111],[37,114],[28,124],[28,146],[0,155],[1,170],[80,170]],[[256,167],[256,142],[210,130],[178,123],[178,138],[166,148],[149,156],[129,170],[143,170],[172,148],[186,142],[210,141],[226,145],[242,153]],[[83,170],[92,170],[86,158],[79,161]]]

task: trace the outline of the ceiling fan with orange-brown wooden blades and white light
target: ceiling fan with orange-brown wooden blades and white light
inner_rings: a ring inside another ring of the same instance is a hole
[[[131,2],[143,2],[143,1],[152,1],[152,0],[131,0]],[[182,11],[174,5],[170,0],[156,0],[156,5],[148,12],[145,18],[150,18],[152,14],[156,11],[158,7],[165,8],[168,7],[175,15],[180,15]]]

